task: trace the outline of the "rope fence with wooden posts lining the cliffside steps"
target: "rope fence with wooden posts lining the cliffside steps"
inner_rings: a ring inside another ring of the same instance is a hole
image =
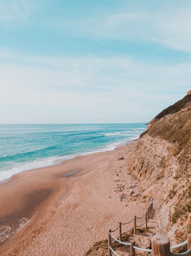
[[[120,256],[120,255],[118,255],[117,252],[115,252],[115,250],[113,250],[113,248],[112,248],[112,244],[113,244],[114,242],[117,242],[117,243],[119,243],[120,245],[130,246],[130,255],[132,255],[132,256],[135,255],[135,249],[136,249],[136,250],[140,250],[140,251],[144,251],[144,252],[152,252],[151,249],[145,249],[145,248],[140,248],[140,247],[135,246],[134,240],[131,240],[130,243],[127,243],[127,242],[122,241],[122,235],[125,235],[126,233],[130,232],[131,230],[134,229],[134,235],[136,235],[136,228],[137,228],[137,227],[142,227],[143,225],[146,224],[145,226],[146,226],[146,228],[147,228],[147,222],[149,221],[149,218],[150,218],[150,216],[151,216],[151,214],[152,214],[152,211],[153,211],[153,202],[151,202],[151,204],[149,205],[149,207],[148,207],[146,213],[145,213],[142,217],[134,216],[134,218],[133,218],[132,220],[130,220],[129,222],[127,222],[127,223],[121,223],[121,222],[119,222],[119,225],[117,226],[117,228],[116,228],[115,230],[109,229],[109,232],[108,232],[108,256],[111,256],[111,255],[112,255],[112,252],[113,252],[114,255]],[[141,224],[141,225],[137,225],[137,224],[136,224],[136,219],[140,220],[140,219],[142,219],[142,218],[144,218],[144,217],[145,217],[144,223]],[[121,229],[122,225],[127,225],[127,224],[131,223],[132,221],[134,221],[134,227],[132,227],[130,230],[128,230],[128,231],[122,233],[122,229]],[[116,238],[116,237],[112,234],[112,232],[115,232],[115,231],[117,231],[118,229],[119,229],[119,236]],[[112,239],[113,239],[113,241],[111,242]],[[167,239],[168,239],[168,238],[167,238]],[[166,243],[166,244],[163,244],[163,243],[159,244],[159,245],[160,245],[160,246],[159,246],[159,250],[161,250],[161,254],[160,254],[159,251],[158,251],[157,254],[156,254],[155,251],[156,251],[157,249],[155,248],[154,252],[152,252],[152,255],[153,255],[153,256],[156,256],[156,255],[159,255],[159,256],[160,256],[160,255],[161,255],[161,256],[166,256],[166,255],[170,255],[170,256],[191,256],[191,234],[188,234],[188,235],[187,235],[187,240],[185,240],[184,242],[182,242],[182,243],[180,243],[180,244],[173,245],[173,246],[171,246],[171,247],[170,247],[169,244],[170,244],[169,242]],[[186,245],[186,244],[187,244],[187,247],[188,247],[187,252],[183,252],[183,253],[179,253],[179,254],[178,254],[178,253],[174,253],[174,252],[170,252],[170,250],[176,249],[176,248],[181,247],[181,246]],[[152,246],[153,246],[153,245],[154,245],[154,244],[153,244],[153,242],[152,242]],[[155,247],[157,247],[156,244],[155,244]],[[164,252],[167,252],[167,254],[164,254]]]

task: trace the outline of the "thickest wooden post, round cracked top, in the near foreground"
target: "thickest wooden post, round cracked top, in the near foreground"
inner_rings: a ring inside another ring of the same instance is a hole
[[[152,256],[170,256],[170,241],[164,235],[152,236]]]

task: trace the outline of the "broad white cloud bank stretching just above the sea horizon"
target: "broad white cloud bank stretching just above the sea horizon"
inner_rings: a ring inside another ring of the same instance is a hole
[[[153,66],[129,56],[51,58],[13,50],[0,56],[1,123],[25,122],[27,110],[28,122],[144,122],[190,89],[190,62]]]

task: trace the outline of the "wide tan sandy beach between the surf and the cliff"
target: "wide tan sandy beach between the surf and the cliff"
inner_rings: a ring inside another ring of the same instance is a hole
[[[144,214],[143,191],[127,171],[135,146],[21,172],[0,184],[0,255],[84,255],[107,238],[108,228]],[[125,194],[132,184],[135,201],[120,200],[117,187]]]

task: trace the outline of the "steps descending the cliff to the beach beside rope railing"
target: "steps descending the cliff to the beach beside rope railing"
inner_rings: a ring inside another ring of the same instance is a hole
[[[139,235],[131,235],[129,240],[124,242],[130,242],[130,240],[134,240],[137,247],[149,249],[151,247],[151,237],[155,234],[158,213],[159,211],[153,208],[149,222],[147,222],[147,229],[141,229],[142,232],[139,233]],[[115,250],[115,252],[120,256],[130,256],[130,247],[121,245],[117,248],[117,250]],[[115,256],[114,253],[112,255]],[[135,255],[143,256],[149,255],[149,253],[135,249]]]

